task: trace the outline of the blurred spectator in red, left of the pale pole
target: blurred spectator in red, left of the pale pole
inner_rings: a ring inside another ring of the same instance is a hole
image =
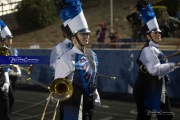
[[[103,22],[100,23],[98,29],[96,30],[98,48],[101,48],[104,44],[106,31],[107,31],[106,25]]]

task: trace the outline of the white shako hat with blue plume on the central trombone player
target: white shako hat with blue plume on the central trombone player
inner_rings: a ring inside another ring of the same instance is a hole
[[[62,31],[68,37],[78,32],[90,33],[80,0],[62,0],[59,16],[63,21]]]

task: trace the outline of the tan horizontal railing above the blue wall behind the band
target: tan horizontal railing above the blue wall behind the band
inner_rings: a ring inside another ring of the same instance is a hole
[[[108,43],[108,44],[99,44],[99,43],[91,43],[88,47],[90,48],[99,48],[99,49],[136,49],[140,50],[144,42],[118,42],[118,43]],[[51,49],[55,43],[49,42],[14,42],[13,46],[16,48],[23,49]],[[180,49],[180,42],[162,42],[161,49]],[[101,47],[99,47],[101,46]],[[112,47],[113,46],[113,47]],[[115,47],[114,47],[115,46]]]

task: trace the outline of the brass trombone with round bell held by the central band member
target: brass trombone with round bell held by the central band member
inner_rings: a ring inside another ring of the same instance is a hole
[[[51,97],[57,101],[54,115],[53,115],[53,120],[55,120],[59,102],[68,100],[72,96],[72,93],[73,93],[72,83],[66,78],[55,79],[54,81],[51,82],[48,89],[50,91],[50,94],[49,94],[41,120],[44,120],[46,109],[47,109],[47,106],[49,104]]]

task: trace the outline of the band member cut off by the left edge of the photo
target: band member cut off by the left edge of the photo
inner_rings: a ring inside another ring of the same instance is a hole
[[[0,20],[0,28],[3,47],[9,50],[8,46],[12,44],[12,34],[7,25],[2,20]],[[0,53],[3,55],[2,50]],[[11,108],[9,106],[10,104],[13,105],[14,103],[14,95],[12,92],[12,87],[10,86],[8,71],[9,65],[0,69],[0,120],[11,120]],[[12,95],[12,99],[9,101],[10,95]]]

